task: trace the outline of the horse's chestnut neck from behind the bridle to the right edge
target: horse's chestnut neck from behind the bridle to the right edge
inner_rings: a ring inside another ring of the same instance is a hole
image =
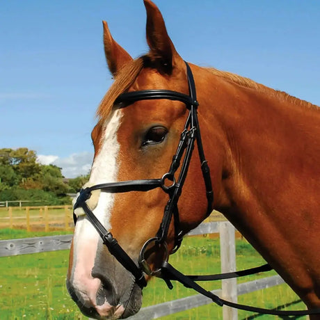
[[[212,177],[216,209],[287,282],[302,287],[287,271],[304,256],[296,269],[301,269],[301,279],[310,280],[303,276],[304,264],[314,262],[307,246],[319,245],[319,110],[271,89],[239,86],[209,72],[198,79],[199,113],[207,124],[202,131],[211,136],[209,165],[221,165],[222,175]],[[224,159],[219,160],[221,154]],[[314,236],[307,244],[301,238],[310,228]],[[319,267],[320,259],[315,273]]]

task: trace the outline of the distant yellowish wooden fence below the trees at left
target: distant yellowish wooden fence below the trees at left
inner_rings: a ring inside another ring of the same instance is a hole
[[[0,227],[32,230],[71,230],[72,206],[35,206],[0,208]]]

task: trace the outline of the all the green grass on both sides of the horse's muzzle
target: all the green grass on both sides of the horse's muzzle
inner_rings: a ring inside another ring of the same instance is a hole
[[[45,232],[26,232],[24,230],[0,230],[0,239],[42,236]],[[61,234],[61,231],[50,232]],[[46,235],[49,235],[46,233]],[[220,252],[218,239],[189,237],[170,262],[185,273],[220,272]],[[237,268],[245,269],[263,264],[264,261],[245,241],[237,240]],[[37,253],[15,257],[0,258],[0,319],[87,319],[72,302],[65,288],[68,250],[50,253]],[[243,278],[243,282],[264,278],[264,273]],[[218,289],[220,282],[205,283],[207,289]],[[143,291],[143,306],[175,300],[195,294],[191,289],[175,284],[168,290],[159,279],[152,280]],[[298,297],[287,285],[280,285],[239,296],[239,303],[260,307],[277,307],[298,301]],[[288,309],[304,308],[303,303],[291,305]],[[222,309],[214,304],[179,312],[162,320],[176,319],[222,319]],[[271,316],[258,316],[250,312],[239,312],[239,319],[276,319]],[[296,318],[297,319],[297,318]],[[299,319],[305,319],[301,317]]]

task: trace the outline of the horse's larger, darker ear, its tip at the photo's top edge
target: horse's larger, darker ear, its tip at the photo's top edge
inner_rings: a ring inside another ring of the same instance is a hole
[[[144,3],[147,10],[147,44],[150,47],[150,58],[171,70],[175,59],[180,56],[170,40],[159,8],[150,0],[144,0]]]

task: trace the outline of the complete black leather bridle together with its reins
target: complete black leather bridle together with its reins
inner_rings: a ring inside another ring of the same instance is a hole
[[[259,312],[262,314],[273,314],[280,316],[292,316],[292,315],[307,315],[307,314],[320,314],[320,309],[317,310],[294,310],[294,311],[281,311],[281,310],[268,310],[259,307],[251,307],[248,305],[241,305],[238,303],[232,303],[230,301],[225,301],[219,298],[211,291],[207,291],[195,281],[207,281],[207,280],[222,280],[230,278],[238,278],[245,275],[251,275],[253,273],[264,272],[272,270],[269,264],[264,264],[263,266],[255,267],[252,269],[246,269],[243,271],[235,271],[231,273],[223,273],[218,275],[184,275],[183,273],[177,271],[171,264],[168,263],[168,248],[166,244],[166,238],[168,236],[168,231],[170,223],[173,219],[174,229],[175,229],[175,245],[170,253],[175,253],[182,243],[182,238],[184,236],[183,230],[180,229],[179,225],[179,211],[177,207],[177,202],[182,193],[182,187],[186,179],[186,174],[189,169],[189,164],[191,161],[191,156],[194,149],[194,143],[197,142],[198,154],[200,157],[200,166],[202,170],[202,176],[205,181],[206,195],[207,195],[207,216],[211,214],[212,202],[214,201],[214,193],[212,191],[210,170],[205,159],[205,152],[202,146],[202,139],[200,134],[200,125],[198,122],[198,101],[195,92],[195,82],[193,79],[193,74],[188,63],[186,63],[186,74],[189,86],[189,95],[184,93],[178,93],[172,90],[140,90],[129,93],[122,93],[117,99],[115,99],[115,104],[119,104],[120,108],[125,108],[134,102],[145,100],[145,99],[170,99],[179,102],[183,102],[186,105],[186,109],[189,110],[189,115],[186,118],[186,123],[184,125],[184,130],[180,136],[180,140],[177,146],[177,151],[173,156],[173,161],[170,165],[168,173],[165,173],[160,179],[141,179],[141,180],[129,180],[122,182],[111,182],[106,184],[96,184],[95,186],[87,187],[86,189],[81,189],[76,203],[74,204],[74,209],[81,207],[85,212],[88,220],[95,227],[99,236],[102,238],[104,245],[109,249],[111,255],[122,264],[122,266],[127,269],[132,275],[134,275],[136,284],[143,289],[147,286],[147,281],[145,280],[145,275],[155,275],[162,278],[169,289],[173,289],[171,283],[172,280],[179,281],[185,287],[194,289],[200,294],[211,298],[211,300],[218,305],[227,305],[229,307],[234,307],[241,310],[246,310],[250,312]],[[181,163],[182,162],[182,163]],[[181,168],[180,168],[181,164]],[[179,176],[176,179],[175,173],[180,168]],[[111,232],[106,230],[106,228],[100,223],[98,218],[93,214],[93,211],[88,207],[86,200],[91,196],[91,192],[95,190],[101,190],[107,193],[125,193],[130,191],[150,191],[152,189],[161,188],[164,192],[168,193],[169,200],[163,212],[163,218],[159,226],[159,230],[155,237],[148,239],[143,247],[138,258],[138,265],[134,262],[131,257],[123,250],[119,245],[118,241],[113,237]],[[77,215],[74,216],[74,224],[77,223]],[[163,248],[165,251],[165,258],[161,264],[161,267],[156,271],[152,271],[149,264],[145,259],[145,253],[147,247],[150,243],[154,243],[156,248]]]

